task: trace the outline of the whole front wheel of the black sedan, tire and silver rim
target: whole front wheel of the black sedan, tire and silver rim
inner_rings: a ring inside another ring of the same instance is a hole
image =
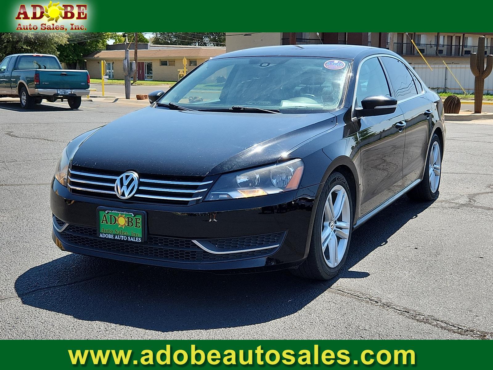
[[[342,269],[352,233],[352,197],[348,181],[332,173],[320,193],[307,259],[291,271],[298,276],[329,280]]]

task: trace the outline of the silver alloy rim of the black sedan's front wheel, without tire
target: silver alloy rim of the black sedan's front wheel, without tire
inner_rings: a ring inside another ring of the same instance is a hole
[[[351,226],[349,196],[341,185],[335,185],[325,200],[321,225],[321,248],[325,263],[336,267],[348,248]]]

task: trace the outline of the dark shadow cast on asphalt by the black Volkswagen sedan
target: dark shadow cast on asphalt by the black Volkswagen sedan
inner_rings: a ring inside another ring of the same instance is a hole
[[[345,270],[327,282],[286,271],[216,275],[70,254],[29,269],[15,290],[26,305],[160,332],[264,323],[299,311],[341,278],[369,276],[352,267],[430,204],[403,197],[355,230]]]

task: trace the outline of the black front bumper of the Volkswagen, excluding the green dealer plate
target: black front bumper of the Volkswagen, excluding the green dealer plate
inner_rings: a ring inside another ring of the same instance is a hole
[[[53,240],[73,253],[181,269],[287,268],[300,264],[308,254],[318,187],[163,206],[76,195],[53,180]],[[99,238],[96,209],[100,206],[146,212],[146,241]]]

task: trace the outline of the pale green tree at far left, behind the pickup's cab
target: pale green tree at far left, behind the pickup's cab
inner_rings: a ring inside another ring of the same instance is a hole
[[[67,43],[66,33],[0,33],[0,60],[16,53],[54,54]]]

